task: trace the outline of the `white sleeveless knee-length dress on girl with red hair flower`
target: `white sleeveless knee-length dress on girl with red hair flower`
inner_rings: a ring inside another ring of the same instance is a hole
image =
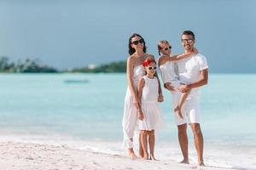
[[[156,77],[153,79],[144,76],[145,85],[142,94],[142,111],[144,119],[139,120],[139,130],[158,130],[166,127],[164,118],[160,113],[160,105],[157,101],[159,95],[159,83]]]

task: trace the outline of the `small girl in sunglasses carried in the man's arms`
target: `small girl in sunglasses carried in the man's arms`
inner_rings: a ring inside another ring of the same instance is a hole
[[[171,56],[171,49],[172,49],[172,46],[170,45],[169,42],[167,41],[158,42],[158,52],[159,54],[162,54],[159,59],[159,67],[160,67],[161,77],[164,82],[164,87],[172,92],[175,92],[177,91],[177,88],[184,83],[179,82],[178,76],[177,76],[177,70],[176,70],[177,68],[175,68],[173,61],[188,58],[192,54],[198,54],[198,51],[196,48],[194,48],[193,53]],[[187,99],[190,91],[191,90],[181,94],[178,104],[172,105],[172,107],[174,108],[174,112],[177,114],[177,116],[181,118],[183,118],[181,108],[183,106],[185,99]],[[173,102],[174,100],[175,99],[172,98],[172,104],[174,104]]]

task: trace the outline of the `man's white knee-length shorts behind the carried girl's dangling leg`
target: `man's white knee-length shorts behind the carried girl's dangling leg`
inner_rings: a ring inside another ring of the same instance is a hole
[[[174,88],[177,88],[178,86],[178,81],[175,81],[172,83],[172,86]],[[192,90],[193,91],[193,90]],[[191,92],[191,94],[194,94]],[[179,102],[179,99],[181,97],[181,93],[179,92],[172,92],[172,111],[177,107],[177,104]],[[199,96],[191,96],[189,94],[188,98],[185,100],[183,107],[181,109],[183,119],[177,116],[176,113],[175,115],[175,122],[178,125],[183,125],[186,123],[200,123],[200,98]]]

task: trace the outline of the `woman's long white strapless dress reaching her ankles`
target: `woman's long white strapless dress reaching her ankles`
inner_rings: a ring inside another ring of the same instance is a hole
[[[133,68],[133,87],[137,91],[137,82],[141,77],[145,75],[143,65],[137,65]],[[131,139],[134,136],[134,132],[137,128],[137,108],[133,104],[133,97],[129,87],[127,87],[125,95],[125,105],[124,105],[124,116],[123,116],[123,133],[124,141],[123,147],[129,149],[133,148],[133,143]]]

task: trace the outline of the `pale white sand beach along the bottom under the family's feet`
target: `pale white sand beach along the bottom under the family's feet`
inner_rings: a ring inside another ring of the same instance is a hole
[[[224,167],[197,167],[174,161],[132,161],[125,156],[108,155],[86,150],[75,150],[65,145],[35,144],[12,141],[0,142],[0,169],[2,170],[121,170],[121,169],[216,169]]]

